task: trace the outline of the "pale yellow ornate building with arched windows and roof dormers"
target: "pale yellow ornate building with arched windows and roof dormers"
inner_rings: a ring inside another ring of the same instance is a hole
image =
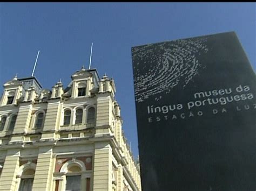
[[[114,81],[96,69],[51,91],[35,77],[4,84],[0,190],[141,190],[122,131]]]

